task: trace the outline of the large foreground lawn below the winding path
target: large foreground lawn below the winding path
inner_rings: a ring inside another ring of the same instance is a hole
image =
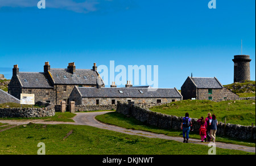
[[[46,145],[46,155],[207,155],[209,150],[208,146],[200,144],[146,138],[81,125],[22,125],[2,131],[0,138],[0,154],[7,155],[36,155],[40,142]],[[216,153],[255,155],[218,147]]]

